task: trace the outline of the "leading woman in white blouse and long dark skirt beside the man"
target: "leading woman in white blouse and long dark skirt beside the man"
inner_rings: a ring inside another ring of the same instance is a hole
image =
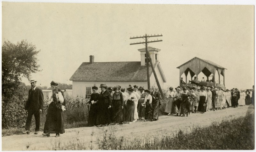
[[[64,119],[63,113],[64,106],[62,103],[64,102],[64,97],[57,87],[58,83],[52,81],[51,82],[51,90],[49,93],[49,107],[46,114],[46,121],[44,124],[44,136],[49,137],[50,133],[55,133],[55,137],[59,137],[60,134],[64,133]]]

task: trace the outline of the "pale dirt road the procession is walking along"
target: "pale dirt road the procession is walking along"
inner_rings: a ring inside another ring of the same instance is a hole
[[[33,133],[4,136],[2,137],[2,150],[53,150],[55,144],[67,144],[72,140],[82,140],[93,143],[102,136],[103,131],[114,129],[117,136],[125,138],[134,138],[142,136],[153,136],[159,134],[173,134],[180,130],[190,132],[193,126],[207,126],[212,122],[221,122],[224,119],[234,119],[239,116],[245,116],[247,112],[254,112],[253,106],[243,106],[238,108],[227,108],[218,111],[209,111],[204,114],[196,113],[188,117],[180,116],[160,116],[158,121],[143,122],[138,121],[132,124],[111,125],[105,127],[81,127],[66,129],[64,134],[56,138],[53,134],[51,137],[43,137],[42,133],[38,135]],[[93,132],[93,136],[91,135]],[[29,146],[27,148],[27,146]]]

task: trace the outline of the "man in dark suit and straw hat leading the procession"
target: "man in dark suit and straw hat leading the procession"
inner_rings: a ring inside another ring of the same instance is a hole
[[[29,134],[31,119],[34,115],[36,120],[35,134],[38,134],[40,126],[40,113],[42,113],[42,110],[44,109],[44,95],[43,91],[36,87],[35,79],[32,79],[29,82],[31,84],[31,89],[28,91],[28,100],[25,105],[25,110],[28,110],[28,117],[25,126],[26,131],[22,133]]]

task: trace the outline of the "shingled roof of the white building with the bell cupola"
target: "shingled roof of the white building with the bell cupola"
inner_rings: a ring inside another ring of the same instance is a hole
[[[164,82],[163,71],[159,62],[154,65],[160,67],[159,71]],[[149,75],[153,73],[149,68]],[[140,62],[83,62],[69,79],[71,81],[147,81],[147,66]]]

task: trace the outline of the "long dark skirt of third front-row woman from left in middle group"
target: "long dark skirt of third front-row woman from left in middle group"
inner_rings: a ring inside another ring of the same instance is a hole
[[[114,107],[113,107],[113,113],[114,113],[114,121],[116,123],[123,121],[124,117],[124,110],[122,109],[122,101],[121,100],[113,100]]]

